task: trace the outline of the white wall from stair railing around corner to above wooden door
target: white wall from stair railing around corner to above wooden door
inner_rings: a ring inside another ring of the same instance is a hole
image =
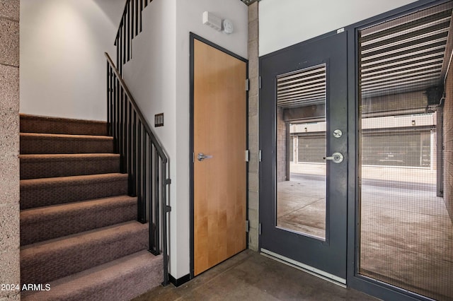
[[[233,20],[235,32],[202,25],[203,11]],[[155,128],[171,158],[170,273],[190,272],[189,120],[190,39],[193,32],[241,57],[247,56],[247,6],[238,0],[154,0],[144,10],[143,32],[132,42],[125,81],[148,122],[164,112]]]

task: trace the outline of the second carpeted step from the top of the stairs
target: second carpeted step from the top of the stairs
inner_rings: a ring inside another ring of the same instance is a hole
[[[113,153],[113,137],[21,133],[21,154]]]

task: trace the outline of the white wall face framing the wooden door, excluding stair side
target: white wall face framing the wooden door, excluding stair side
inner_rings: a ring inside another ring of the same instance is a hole
[[[176,120],[178,131],[176,141],[176,174],[178,175],[178,220],[172,235],[178,235],[178,270],[177,276],[184,276],[189,271],[189,32],[228,49],[241,57],[247,58],[248,9],[239,0],[183,0],[177,1],[176,19]],[[234,23],[234,33],[213,30],[202,24],[203,11],[210,11],[220,18],[229,18]],[[173,275],[173,269],[172,269]],[[175,276],[175,275],[173,275]]]

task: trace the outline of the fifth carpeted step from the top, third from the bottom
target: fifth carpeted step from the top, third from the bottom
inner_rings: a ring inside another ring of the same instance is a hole
[[[21,211],[21,245],[137,218],[137,198],[114,196]]]

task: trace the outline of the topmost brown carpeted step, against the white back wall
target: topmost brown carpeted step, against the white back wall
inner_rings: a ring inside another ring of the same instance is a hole
[[[21,133],[107,135],[107,122],[21,114]]]

